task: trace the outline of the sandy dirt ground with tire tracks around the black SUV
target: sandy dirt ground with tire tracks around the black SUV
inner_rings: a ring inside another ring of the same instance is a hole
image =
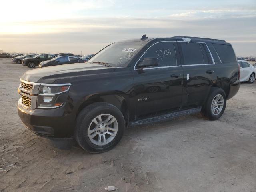
[[[200,114],[129,127],[103,154],[59,150],[17,114],[20,76],[0,58],[0,192],[256,192],[256,83],[242,83],[217,121]]]

